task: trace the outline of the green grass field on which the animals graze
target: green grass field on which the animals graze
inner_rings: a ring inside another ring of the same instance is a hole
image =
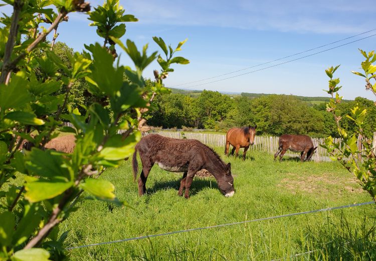
[[[191,198],[177,196],[181,174],[154,166],[147,195],[137,196],[130,162],[103,179],[134,209],[81,200],[60,226],[67,247],[370,201],[337,163],[274,162],[252,152],[231,162],[235,195],[224,197],[214,178],[194,179]],[[140,163],[139,163],[140,164]],[[283,217],[221,228],[69,250],[73,260],[375,260],[375,206]],[[304,253],[297,255],[299,253]]]

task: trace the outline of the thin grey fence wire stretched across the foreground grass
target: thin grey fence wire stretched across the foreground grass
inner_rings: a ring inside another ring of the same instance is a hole
[[[357,207],[357,206],[363,206],[363,205],[369,205],[369,204],[374,204],[374,201],[357,203],[357,204],[351,204],[351,205],[345,205],[345,206],[339,206],[339,207],[322,208],[322,209],[316,209],[316,210],[310,210],[310,211],[304,211],[304,212],[298,212],[298,213],[292,213],[292,214],[285,214],[285,215],[280,215],[280,216],[264,217],[264,218],[258,218],[258,219],[246,220],[246,221],[240,221],[240,222],[234,222],[234,223],[228,223],[228,224],[206,226],[206,227],[196,227],[196,228],[185,229],[185,230],[178,230],[178,231],[172,231],[172,232],[161,233],[161,234],[153,234],[153,235],[143,235],[143,236],[137,236],[137,237],[130,237],[130,238],[125,238],[125,239],[120,239],[120,240],[114,240],[114,241],[108,241],[108,242],[100,242],[100,243],[94,243],[94,244],[72,246],[72,247],[67,247],[66,249],[67,250],[71,250],[71,249],[82,248],[82,247],[89,247],[89,246],[96,246],[96,245],[104,245],[104,244],[126,242],[126,241],[139,240],[139,239],[144,239],[144,238],[158,237],[158,236],[164,236],[164,235],[172,235],[172,234],[191,232],[191,231],[203,230],[203,229],[215,228],[215,227],[224,227],[224,226],[230,226],[230,225],[239,225],[239,224],[244,224],[244,223],[249,223],[249,222],[255,222],[255,221],[261,221],[261,220],[268,220],[268,219],[275,219],[275,218],[281,218],[281,217],[296,216],[296,215],[301,215],[301,214],[323,212],[323,211],[329,211],[329,210],[334,210],[334,209]]]

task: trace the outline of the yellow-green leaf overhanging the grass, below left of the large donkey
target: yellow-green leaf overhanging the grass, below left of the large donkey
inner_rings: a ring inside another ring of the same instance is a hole
[[[86,179],[84,183],[80,184],[80,187],[98,198],[115,198],[113,194],[115,187],[111,182],[106,180]]]

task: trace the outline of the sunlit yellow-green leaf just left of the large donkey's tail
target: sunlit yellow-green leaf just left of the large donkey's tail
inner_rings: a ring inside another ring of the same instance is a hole
[[[135,132],[123,140],[121,135],[111,137],[100,151],[99,156],[105,160],[116,161],[130,157],[134,152],[134,147],[141,139],[141,134]]]

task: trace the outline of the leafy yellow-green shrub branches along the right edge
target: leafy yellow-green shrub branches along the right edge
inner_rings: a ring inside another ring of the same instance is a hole
[[[364,77],[366,82],[366,89],[376,95],[375,74],[376,66],[373,63],[376,61],[376,54],[374,51],[366,53],[359,50],[365,60],[361,63],[363,73],[354,72],[354,74]],[[341,126],[340,122],[344,118],[339,115],[338,108],[342,102],[342,97],[339,96],[338,91],[342,86],[339,86],[339,78],[333,78],[334,72],[338,69],[330,67],[325,70],[326,75],[329,77],[329,88],[325,90],[330,94],[331,99],[326,104],[327,111],[332,113],[334,121],[337,125],[337,132],[341,140],[334,142],[332,137],[325,140],[324,147],[331,155],[332,160],[338,160],[349,172],[351,172],[359,181],[362,188],[369,193],[372,199],[376,200],[376,155],[372,139],[366,138],[365,123],[367,122],[367,108],[364,108],[370,103],[362,98],[357,98],[355,106],[351,109],[351,114],[346,114],[345,117],[350,119],[356,126],[354,132],[346,131]],[[362,103],[362,104],[360,104]],[[373,112],[374,113],[374,112]],[[374,116],[371,115],[373,118]],[[373,118],[374,119],[374,118]],[[373,121],[374,122],[374,121]],[[375,131],[375,129],[371,129]],[[358,148],[357,141],[361,142],[361,149]]]

